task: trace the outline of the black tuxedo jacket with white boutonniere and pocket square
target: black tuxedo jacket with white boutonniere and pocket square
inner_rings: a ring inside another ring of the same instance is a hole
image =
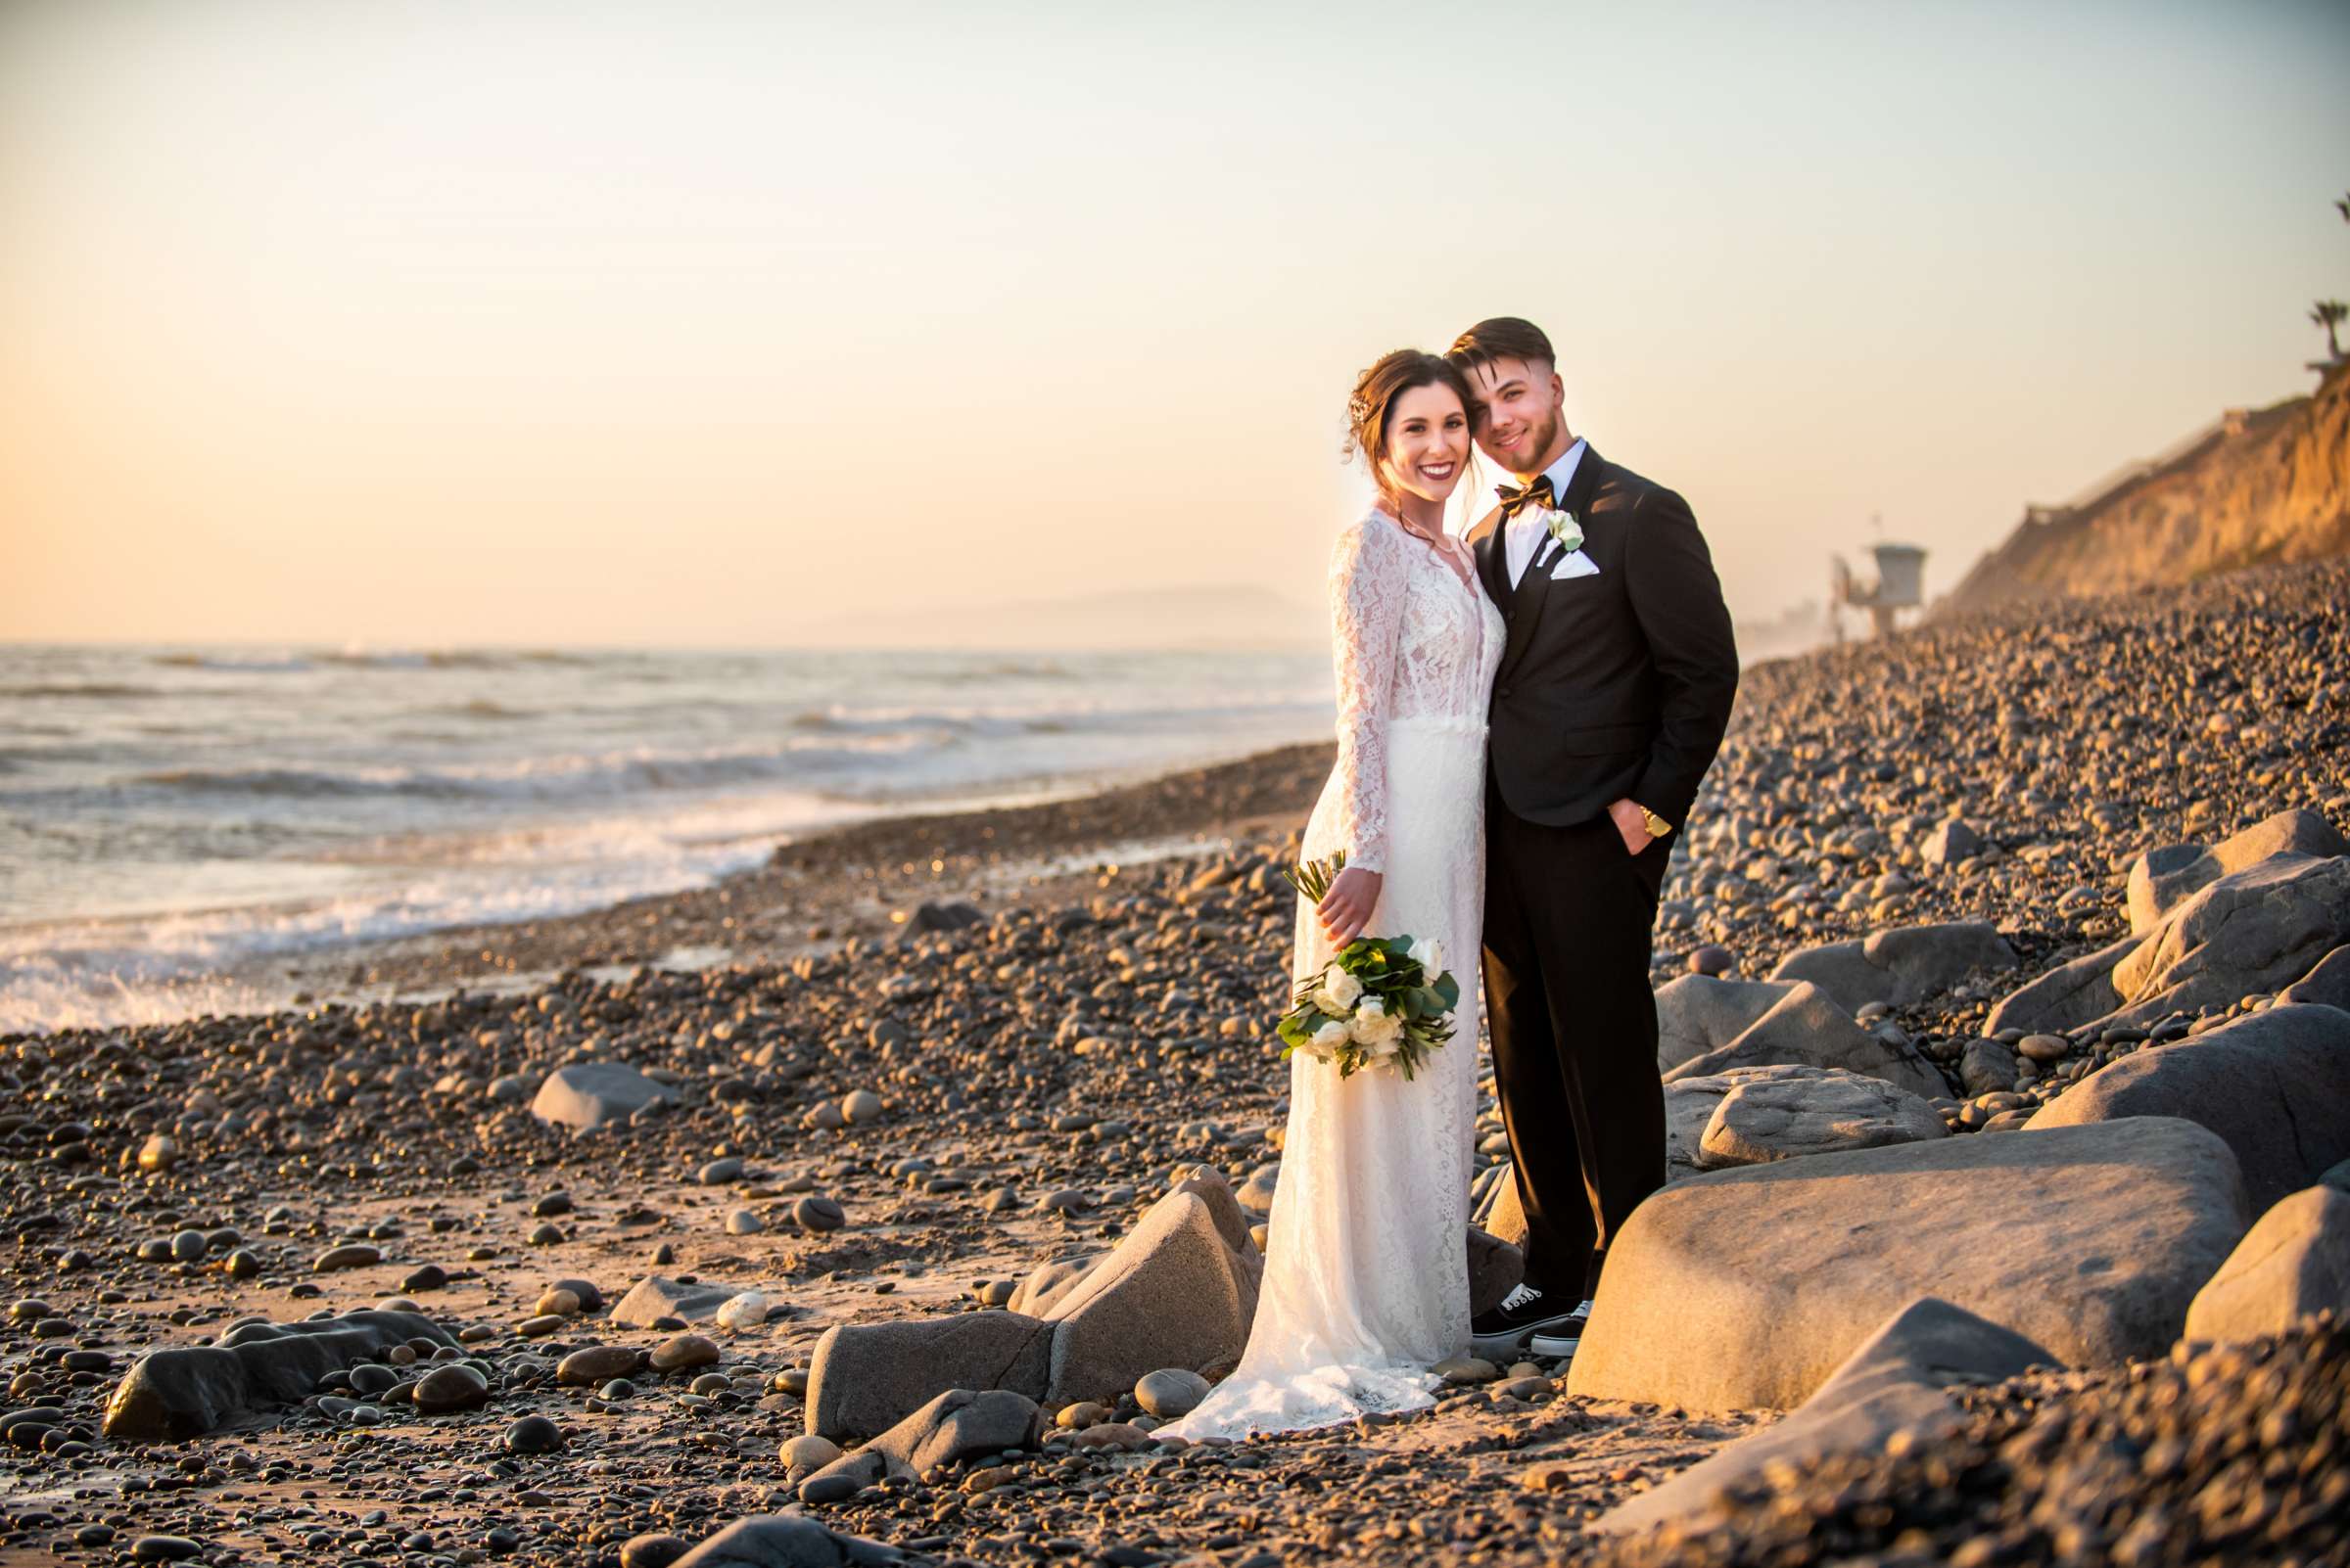
[[[1502,803],[1551,826],[1638,800],[1673,826],[1730,728],[1739,650],[1713,556],[1673,491],[1584,446],[1558,502],[1584,528],[1589,577],[1551,577],[1558,549],[1511,589],[1502,512],[1469,542],[1509,641],[1492,683],[1488,768]]]

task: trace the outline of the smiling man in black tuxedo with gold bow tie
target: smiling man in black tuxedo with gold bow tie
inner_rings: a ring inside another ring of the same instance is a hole
[[[1567,430],[1532,322],[1445,354],[1478,448],[1509,469],[1469,530],[1509,634],[1485,770],[1485,1009],[1525,1209],[1525,1284],[1478,1354],[1574,1354],[1607,1244],[1664,1185],[1650,927],[1739,655],[1690,505]]]

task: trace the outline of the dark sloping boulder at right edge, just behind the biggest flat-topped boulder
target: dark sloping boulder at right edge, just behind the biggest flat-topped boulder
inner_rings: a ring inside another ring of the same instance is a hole
[[[2183,1117],[2235,1150],[2254,1214],[2350,1157],[2350,1012],[2270,1007],[2113,1061],[2042,1106],[2026,1131]]]

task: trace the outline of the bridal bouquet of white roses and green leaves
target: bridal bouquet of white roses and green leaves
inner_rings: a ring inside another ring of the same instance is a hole
[[[1347,854],[1283,871],[1302,899],[1321,904]],[[1462,988],[1445,974],[1436,941],[1415,937],[1356,937],[1316,974],[1297,981],[1295,1007],[1274,1033],[1281,1059],[1304,1052],[1337,1066],[1340,1077],[1363,1068],[1403,1073],[1405,1080],[1429,1052],[1452,1038],[1452,1009]]]

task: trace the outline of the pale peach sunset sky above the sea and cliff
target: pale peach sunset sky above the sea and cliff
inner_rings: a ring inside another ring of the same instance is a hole
[[[1741,617],[1948,587],[2350,296],[2350,7],[12,0],[0,638],[1318,603],[1528,315]]]

